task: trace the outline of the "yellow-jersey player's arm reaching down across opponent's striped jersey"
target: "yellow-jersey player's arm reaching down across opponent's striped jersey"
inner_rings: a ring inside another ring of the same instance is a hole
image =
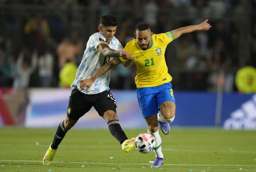
[[[101,75],[106,73],[108,70],[110,70],[112,67],[114,67],[118,64],[120,64],[119,60],[117,58],[113,58],[112,60],[110,60],[103,66],[101,66],[101,68],[97,72],[95,72],[89,79],[80,80],[80,90],[82,91],[85,87],[86,87],[85,91],[88,90],[91,87],[92,83],[98,77],[100,77]]]

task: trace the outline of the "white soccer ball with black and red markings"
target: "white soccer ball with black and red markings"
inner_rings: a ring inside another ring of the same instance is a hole
[[[135,138],[135,147],[140,153],[151,152],[155,145],[156,141],[149,133],[141,133]]]

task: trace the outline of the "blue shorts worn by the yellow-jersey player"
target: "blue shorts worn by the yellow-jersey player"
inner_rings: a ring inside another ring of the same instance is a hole
[[[170,82],[156,87],[137,88],[137,96],[143,118],[157,114],[159,106],[163,102],[171,101],[175,103]]]

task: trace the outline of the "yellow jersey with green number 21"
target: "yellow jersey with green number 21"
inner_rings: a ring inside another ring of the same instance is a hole
[[[141,49],[137,39],[130,41],[124,47],[132,54],[131,58],[137,67],[135,83],[139,88],[155,87],[172,80],[164,57],[166,46],[173,41],[172,32],[154,34],[151,41],[151,46],[146,50]],[[127,60],[119,57],[119,61]]]

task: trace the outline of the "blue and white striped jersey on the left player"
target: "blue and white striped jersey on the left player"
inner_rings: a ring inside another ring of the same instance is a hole
[[[100,43],[106,43],[106,38],[103,37],[100,33],[93,34],[86,45],[86,49],[84,51],[84,56],[76,71],[76,78],[71,85],[71,90],[74,88],[78,88],[80,90],[80,80],[90,78],[96,71],[99,70],[101,66],[110,61],[113,57],[104,57],[104,55],[97,50],[97,46]],[[107,43],[106,43],[107,44]],[[110,44],[108,44],[110,48],[120,51],[122,50],[121,43],[113,37]],[[110,81],[110,70],[105,74],[101,75],[97,78],[91,87],[84,91],[81,91],[85,94],[97,94],[103,91],[109,90],[109,81]]]

